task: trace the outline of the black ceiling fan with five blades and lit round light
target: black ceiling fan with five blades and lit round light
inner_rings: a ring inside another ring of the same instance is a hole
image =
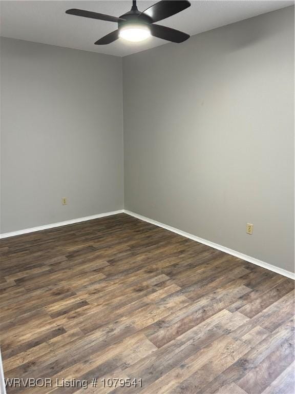
[[[117,30],[100,38],[95,45],[111,44],[118,40],[119,37],[128,41],[138,42],[145,40],[151,35],[173,43],[182,43],[189,38],[188,34],[170,27],[155,25],[154,22],[162,21],[162,19],[175,15],[189,6],[191,6],[191,3],[186,0],[162,0],[140,12],[137,8],[136,0],[133,0],[131,10],[120,17],[78,10],[76,8],[67,10],[66,13],[100,19],[100,21],[116,22],[118,24]]]

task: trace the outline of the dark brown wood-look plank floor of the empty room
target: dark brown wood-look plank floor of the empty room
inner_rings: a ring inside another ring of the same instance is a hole
[[[8,393],[295,392],[290,279],[125,214],[0,250],[5,377],[89,382]]]

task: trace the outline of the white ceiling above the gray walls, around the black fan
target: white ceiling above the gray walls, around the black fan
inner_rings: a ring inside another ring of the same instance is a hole
[[[154,3],[156,1],[138,1],[138,8],[143,11]],[[193,35],[294,4],[284,0],[202,0],[191,3],[191,7],[159,24]],[[98,38],[116,30],[117,24],[65,13],[69,8],[80,8],[119,16],[130,10],[131,5],[131,0],[1,1],[1,35],[116,56],[166,44],[166,41],[152,37],[142,43],[118,40],[109,45],[94,45]]]

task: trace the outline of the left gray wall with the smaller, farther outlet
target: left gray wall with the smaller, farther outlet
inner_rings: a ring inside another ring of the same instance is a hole
[[[2,233],[123,208],[121,63],[1,38]]]

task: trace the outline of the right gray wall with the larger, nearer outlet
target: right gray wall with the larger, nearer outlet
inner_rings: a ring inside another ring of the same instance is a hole
[[[123,59],[125,208],[289,271],[293,12]]]

